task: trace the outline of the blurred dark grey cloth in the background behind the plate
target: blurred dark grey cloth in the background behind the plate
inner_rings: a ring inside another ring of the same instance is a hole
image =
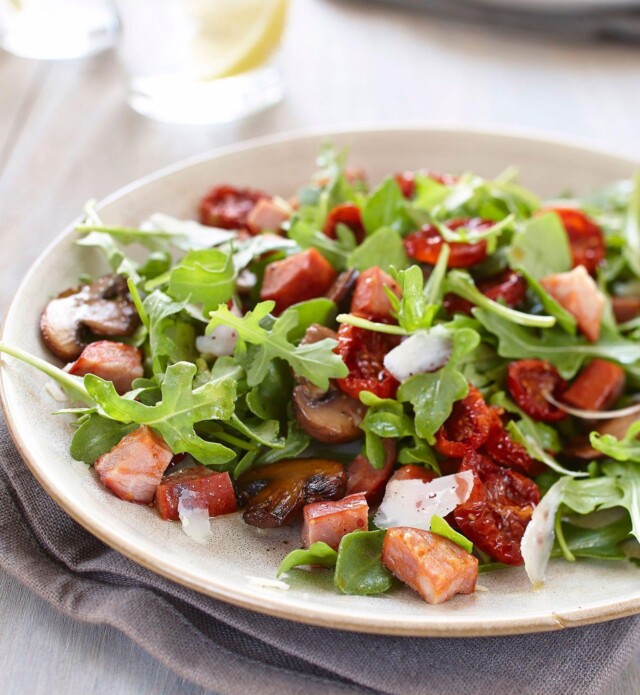
[[[608,39],[640,42],[640,2],[637,8],[615,0],[584,6],[558,3],[522,5],[486,0],[377,0],[429,12],[442,19],[485,25],[499,31],[514,30],[542,38],[574,41]]]

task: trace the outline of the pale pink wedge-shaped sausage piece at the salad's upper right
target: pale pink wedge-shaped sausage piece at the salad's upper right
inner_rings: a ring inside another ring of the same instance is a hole
[[[595,343],[600,337],[605,299],[586,268],[579,265],[568,273],[548,275],[540,284],[575,317],[587,340]]]

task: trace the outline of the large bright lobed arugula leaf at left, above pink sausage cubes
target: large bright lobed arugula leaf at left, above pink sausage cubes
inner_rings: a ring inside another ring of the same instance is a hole
[[[241,370],[238,367],[238,373]],[[230,376],[193,389],[196,366],[178,362],[167,368],[162,400],[153,406],[119,396],[109,381],[87,374],[84,383],[100,413],[118,422],[135,422],[157,430],[174,454],[188,453],[208,466],[222,466],[235,452],[217,442],[207,442],[195,433],[203,420],[229,420],[234,412],[236,382]]]

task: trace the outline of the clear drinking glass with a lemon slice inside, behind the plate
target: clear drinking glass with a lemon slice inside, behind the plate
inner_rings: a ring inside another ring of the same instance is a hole
[[[225,123],[283,96],[288,0],[137,0],[121,6],[129,104],[156,120]]]

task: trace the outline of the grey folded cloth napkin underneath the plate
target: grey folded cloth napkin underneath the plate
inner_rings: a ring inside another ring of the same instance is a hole
[[[1,418],[0,566],[67,615],[113,625],[221,695],[591,695],[640,645],[640,616],[538,635],[430,639],[310,627],[221,603],[84,531],[34,480]]]

